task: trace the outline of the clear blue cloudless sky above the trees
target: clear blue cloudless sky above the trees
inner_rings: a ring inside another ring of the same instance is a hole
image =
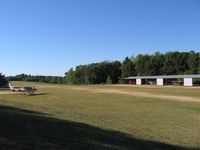
[[[200,50],[200,0],[0,0],[7,76],[172,50]]]

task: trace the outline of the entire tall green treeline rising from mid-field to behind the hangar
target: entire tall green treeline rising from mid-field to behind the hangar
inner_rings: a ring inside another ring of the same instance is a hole
[[[124,82],[128,76],[200,74],[198,52],[156,52],[126,57],[123,62],[104,61],[79,65],[65,73],[67,84],[115,84]]]

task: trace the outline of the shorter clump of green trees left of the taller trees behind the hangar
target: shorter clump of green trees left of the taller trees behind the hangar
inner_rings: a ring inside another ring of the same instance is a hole
[[[65,82],[67,84],[115,84],[118,83],[121,75],[120,68],[119,61],[79,65],[75,70],[71,68],[65,73]]]

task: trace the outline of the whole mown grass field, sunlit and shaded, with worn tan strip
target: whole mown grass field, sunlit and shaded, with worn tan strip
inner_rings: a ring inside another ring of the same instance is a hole
[[[0,95],[0,149],[200,149],[200,88],[12,84],[39,91]]]

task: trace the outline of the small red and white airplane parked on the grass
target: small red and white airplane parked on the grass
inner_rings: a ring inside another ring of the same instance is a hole
[[[29,94],[29,95],[35,95],[35,92],[38,90],[34,86],[29,86],[29,87],[19,87],[19,86],[12,86],[9,83],[9,88],[13,92],[24,92],[24,94]]]

